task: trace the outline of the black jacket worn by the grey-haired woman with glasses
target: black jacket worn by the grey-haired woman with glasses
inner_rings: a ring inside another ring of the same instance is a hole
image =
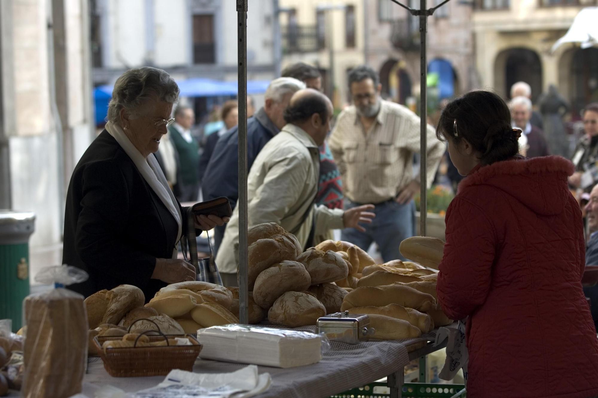
[[[166,286],[151,279],[155,259],[172,257],[177,232],[129,155],[102,131],[75,167],[66,195],[62,262],[89,273],[89,280],[69,289],[87,297],[132,284],[149,301]]]

